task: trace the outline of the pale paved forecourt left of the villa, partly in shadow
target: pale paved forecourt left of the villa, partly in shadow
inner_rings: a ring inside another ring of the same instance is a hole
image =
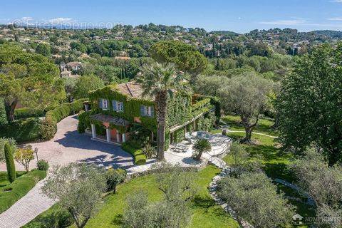
[[[91,162],[105,167],[133,167],[133,158],[121,147],[105,142],[91,140],[90,135],[77,132],[77,115],[71,115],[57,124],[57,133],[52,140],[31,143],[38,147],[39,160],[47,160],[50,165],[67,165],[70,162]],[[31,161],[30,167],[36,167],[36,160]],[[24,170],[16,164],[17,170]],[[0,170],[6,170],[6,164],[0,164]]]

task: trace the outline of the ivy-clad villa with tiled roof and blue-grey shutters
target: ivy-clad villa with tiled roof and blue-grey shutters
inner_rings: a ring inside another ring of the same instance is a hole
[[[142,94],[135,82],[109,85],[90,91],[92,109],[80,117],[79,129],[89,131],[93,139],[120,145],[130,139],[130,127],[140,125],[156,141],[157,119],[154,98]],[[217,118],[219,103],[215,98],[176,92],[167,103],[165,144],[180,142],[185,133],[209,130]],[[80,127],[81,126],[81,127]]]

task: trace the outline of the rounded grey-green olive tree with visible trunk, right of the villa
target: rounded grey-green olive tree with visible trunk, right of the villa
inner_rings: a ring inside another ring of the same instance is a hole
[[[267,95],[272,83],[256,73],[244,73],[232,77],[219,89],[222,109],[240,116],[246,136],[242,143],[251,142],[252,131],[257,126],[259,115],[267,105]]]

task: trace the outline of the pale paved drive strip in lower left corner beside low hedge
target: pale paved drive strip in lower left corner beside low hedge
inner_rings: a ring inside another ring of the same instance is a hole
[[[44,180],[38,182],[26,196],[19,199],[6,212],[0,214],[1,228],[22,227],[55,204],[52,199],[41,193],[43,182]]]

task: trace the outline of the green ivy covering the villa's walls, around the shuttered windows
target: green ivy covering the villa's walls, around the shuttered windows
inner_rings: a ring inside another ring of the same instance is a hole
[[[99,100],[108,100],[108,110],[102,110],[99,108]],[[113,110],[112,100],[118,100],[123,102],[123,112],[116,112]],[[89,128],[90,126],[90,115],[96,113],[103,113],[107,115],[118,116],[124,118],[129,122],[133,123],[135,118],[140,118],[141,125],[151,130],[152,132],[157,132],[157,119],[154,115],[153,117],[140,116],[140,105],[145,106],[155,106],[152,100],[131,98],[128,95],[120,93],[115,85],[105,86],[98,90],[93,90],[90,92],[90,103],[92,104],[92,110],[89,114],[82,114],[80,116],[80,122],[86,123],[83,128]],[[213,114],[213,111],[215,115]],[[189,93],[175,93],[172,98],[168,100],[167,103],[167,128],[165,131],[165,149],[170,145],[170,128],[175,125],[182,125],[192,118],[197,117],[201,113],[207,113],[197,120],[197,130],[210,130],[212,125],[216,120],[219,119],[219,101],[217,98],[208,97],[203,95],[190,95]],[[82,120],[82,121],[81,121]],[[93,122],[93,121],[91,121]],[[111,127],[116,128],[121,131],[119,126],[111,125]],[[173,133],[173,141],[180,142],[184,139],[185,130],[192,131],[193,125],[187,125],[184,128],[177,130]]]

